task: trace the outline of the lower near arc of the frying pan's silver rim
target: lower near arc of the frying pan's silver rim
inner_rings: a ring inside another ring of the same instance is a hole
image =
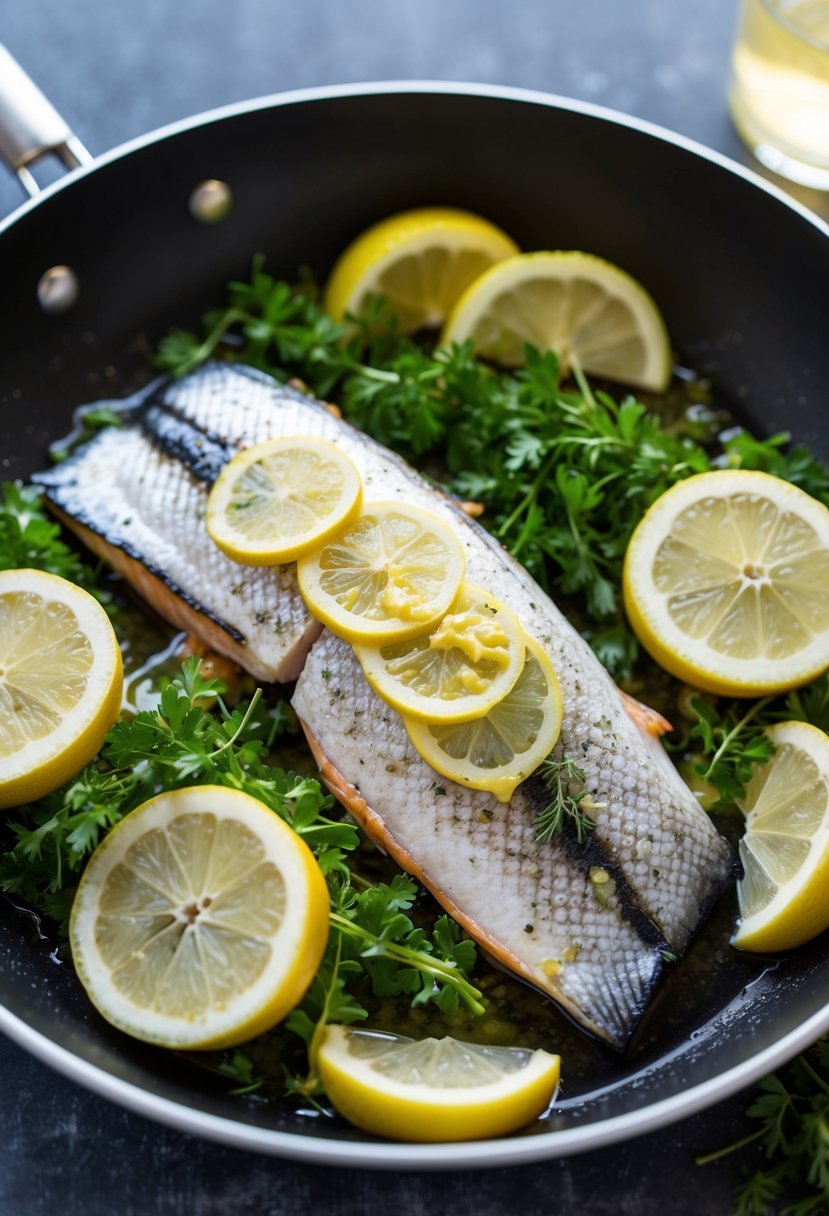
[[[698,1114],[774,1071],[828,1032],[829,1006],[813,1013],[795,1030],[750,1059],[690,1090],[682,1090],[670,1098],[662,1098],[638,1110],[613,1115],[609,1119],[585,1124],[582,1127],[565,1127],[528,1137],[467,1141],[455,1144],[328,1139],[239,1122],[224,1115],[184,1105],[171,1098],[151,1093],[131,1081],[124,1081],[61,1047],[2,1007],[0,1007],[0,1030],[41,1063],[98,1097],[176,1131],[202,1136],[231,1148],[354,1169],[393,1170],[402,1166],[414,1170],[480,1170],[529,1165],[607,1148]]]

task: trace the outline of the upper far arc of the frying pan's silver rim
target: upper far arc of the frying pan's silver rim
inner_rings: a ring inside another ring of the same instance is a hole
[[[190,118],[181,118],[174,123],[167,123],[145,135],[139,135],[131,140],[125,140],[123,143],[115,145],[114,148],[95,157],[90,164],[69,170],[69,173],[67,173],[63,178],[60,178],[57,181],[46,186],[34,198],[26,199],[7,216],[0,219],[0,236],[4,236],[9,229],[28,215],[29,212],[43,206],[50,198],[60,195],[63,190],[69,188],[84,178],[88,178],[91,174],[105,169],[107,165],[130,156],[132,152],[139,152],[142,148],[152,146],[153,143],[160,143],[165,140],[174,139],[177,135],[184,135],[187,131],[208,126],[213,123],[238,118],[244,114],[281,108],[282,106],[304,105],[306,102],[316,101],[335,101],[344,97],[394,96],[407,94],[427,94],[434,96],[440,96],[442,94],[458,97],[481,97],[485,100],[523,102],[526,105],[545,106],[549,109],[564,109],[574,114],[583,114],[588,118],[597,118],[616,126],[628,128],[630,130],[656,139],[660,142],[670,143],[686,152],[690,152],[693,156],[697,156],[703,161],[707,161],[717,168],[724,169],[726,171],[741,178],[749,185],[755,186],[766,195],[769,195],[773,199],[776,199],[776,202],[783,203],[789,210],[794,212],[801,219],[816,227],[823,236],[829,237],[829,223],[824,221],[819,215],[810,210],[810,208],[799,202],[799,199],[788,195],[783,187],[768,181],[754,169],[740,164],[738,161],[732,159],[724,153],[717,152],[715,148],[706,147],[704,143],[700,143],[690,136],[682,135],[678,131],[672,131],[667,126],[661,126],[659,123],[652,123],[645,118],[625,114],[610,106],[599,106],[596,102],[580,101],[559,94],[545,92],[540,89],[519,89],[513,85],[490,85],[478,84],[474,81],[432,79],[367,80],[348,84],[315,85],[306,89],[292,89],[284,92],[266,94],[263,97],[254,97],[248,101],[216,106],[212,109],[205,109],[198,114],[193,114]]]

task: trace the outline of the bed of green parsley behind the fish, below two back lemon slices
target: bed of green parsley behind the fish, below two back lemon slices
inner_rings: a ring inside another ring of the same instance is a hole
[[[716,410],[665,421],[632,394],[593,389],[577,371],[564,384],[552,351],[528,347],[525,367],[502,372],[469,343],[427,349],[400,334],[382,300],[339,325],[308,278],[275,280],[260,257],[248,282],[227,285],[225,306],[203,317],[202,332],[169,334],[156,362],[182,376],[215,356],[333,394],[362,430],[461,499],[483,502],[481,522],[542,586],[569,597],[619,679],[638,654],[620,603],[625,548],[670,485],[726,463],[767,469],[829,503],[829,473],[803,449],[786,451],[788,435],[761,440],[734,428],[717,444]]]

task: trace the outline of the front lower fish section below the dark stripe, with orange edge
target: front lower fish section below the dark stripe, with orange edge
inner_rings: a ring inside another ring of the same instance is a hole
[[[604,855],[574,849],[564,834],[536,840],[543,787],[526,782],[503,804],[440,777],[368,686],[350,646],[327,630],[293,705],[326,784],[368,835],[498,963],[624,1047],[666,944],[653,933],[643,940],[619,890],[599,902],[590,871],[610,866]]]

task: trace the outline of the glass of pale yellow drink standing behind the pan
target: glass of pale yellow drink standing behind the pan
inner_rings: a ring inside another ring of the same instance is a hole
[[[829,190],[829,0],[741,0],[728,100],[762,164]]]

